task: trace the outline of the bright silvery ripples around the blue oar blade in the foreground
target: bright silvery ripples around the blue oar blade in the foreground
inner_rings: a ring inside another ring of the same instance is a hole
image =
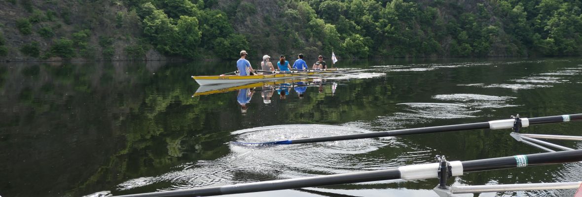
[[[237,135],[237,141],[259,142],[363,132],[371,131],[348,126],[307,124],[257,127],[234,131],[232,134]],[[176,167],[176,170],[158,177],[141,177],[123,182],[117,189],[126,190],[151,184],[157,184],[156,188],[159,188],[159,191],[232,185],[317,174],[349,173],[367,170],[366,167],[386,169],[402,166],[403,161],[414,159],[415,156],[431,157],[430,153],[422,151],[425,148],[419,147],[410,149],[416,152],[411,153],[409,157],[386,159],[368,156],[364,163],[361,162],[362,155],[387,145],[391,148],[404,146],[391,137],[266,147],[229,144],[231,153],[225,157],[212,161],[185,163]]]

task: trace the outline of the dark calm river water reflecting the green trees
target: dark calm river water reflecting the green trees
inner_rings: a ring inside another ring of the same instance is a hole
[[[242,108],[239,90],[194,95],[199,85],[190,78],[228,73],[235,61],[0,63],[0,196],[139,194],[391,169],[434,163],[437,155],[464,161],[540,153],[510,137],[511,130],[268,147],[229,142],[582,113],[580,58],[340,60],[336,66],[361,73],[292,81],[285,98],[275,91],[268,101],[261,87],[248,89],[251,100]],[[523,131],[580,135],[581,126]],[[581,175],[580,163],[554,164],[468,173],[449,184],[566,182]],[[437,184],[386,180],[233,196],[437,196],[431,190]]]

